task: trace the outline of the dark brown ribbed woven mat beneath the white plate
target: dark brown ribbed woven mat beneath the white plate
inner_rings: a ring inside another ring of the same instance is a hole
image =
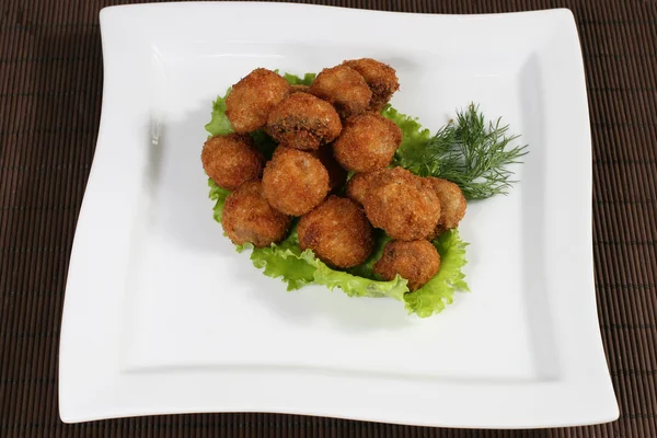
[[[64,425],[57,350],[101,111],[97,16],[116,3],[0,0],[0,436],[657,437],[657,1],[649,0],[326,1],[427,13],[573,10],[587,69],[598,311],[618,422],[472,431],[208,414]]]

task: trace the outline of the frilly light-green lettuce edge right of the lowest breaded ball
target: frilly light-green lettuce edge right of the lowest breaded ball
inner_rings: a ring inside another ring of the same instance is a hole
[[[465,274],[461,270],[468,263],[465,246],[457,229],[446,231],[433,242],[440,254],[440,270],[426,285],[406,293],[406,310],[419,318],[440,313],[453,302],[457,290],[469,291]]]

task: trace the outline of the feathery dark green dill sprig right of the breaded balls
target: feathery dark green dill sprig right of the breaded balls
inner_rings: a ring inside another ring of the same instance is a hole
[[[450,120],[424,148],[414,148],[405,157],[405,166],[422,176],[436,176],[457,183],[468,199],[485,199],[506,195],[517,181],[507,165],[519,163],[527,145],[509,148],[519,136],[508,135],[509,126],[502,117],[487,122],[479,105],[457,111]]]

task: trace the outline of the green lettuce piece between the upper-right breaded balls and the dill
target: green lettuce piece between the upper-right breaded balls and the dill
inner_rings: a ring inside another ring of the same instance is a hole
[[[381,114],[394,122],[402,130],[402,143],[395,152],[393,164],[419,173],[418,162],[425,157],[425,148],[431,138],[431,132],[423,128],[417,118],[400,113],[390,104],[385,105]]]

